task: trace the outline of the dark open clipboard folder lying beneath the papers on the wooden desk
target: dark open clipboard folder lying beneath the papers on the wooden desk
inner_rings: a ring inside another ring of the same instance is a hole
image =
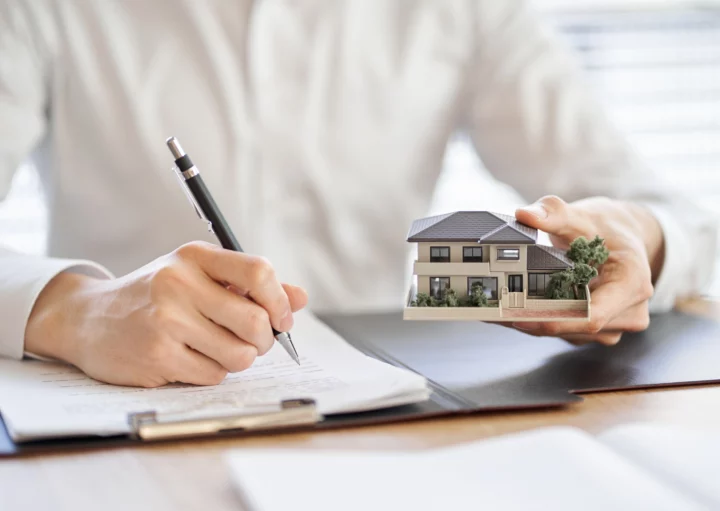
[[[185,433],[196,433],[184,436],[221,438],[553,408],[580,403],[582,398],[577,394],[588,392],[720,381],[720,324],[680,313],[655,316],[647,331],[626,335],[614,347],[574,347],[559,339],[534,338],[484,323],[403,321],[399,312],[322,319],[366,354],[424,375],[433,390],[431,399],[323,420],[316,420],[312,403],[285,403],[288,406],[280,407],[275,415],[250,421],[247,417],[225,418],[227,422],[210,429],[181,424]],[[0,423],[0,456],[175,439],[163,431],[178,424],[157,425],[152,414],[138,414],[132,419],[138,428],[135,435],[17,445]],[[148,434],[140,434],[140,428]]]

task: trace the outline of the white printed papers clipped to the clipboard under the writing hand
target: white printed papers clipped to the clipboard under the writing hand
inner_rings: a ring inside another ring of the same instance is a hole
[[[314,398],[323,414],[382,408],[427,399],[425,379],[360,353],[309,313],[296,317],[298,367],[276,344],[252,368],[221,385],[118,387],[78,370],[39,361],[0,361],[0,411],[16,441],[128,431],[127,414],[238,413],[281,399]]]

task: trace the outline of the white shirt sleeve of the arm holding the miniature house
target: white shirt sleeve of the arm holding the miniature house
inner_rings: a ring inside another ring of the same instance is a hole
[[[465,123],[488,171],[529,201],[605,196],[647,206],[665,240],[651,310],[702,292],[715,261],[717,219],[640,161],[571,51],[526,1],[472,5]]]

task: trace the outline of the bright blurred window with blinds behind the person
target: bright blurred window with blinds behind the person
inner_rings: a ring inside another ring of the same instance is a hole
[[[647,164],[720,215],[720,0],[535,3]],[[450,141],[431,213],[512,212],[522,203],[488,175],[462,133]],[[0,204],[0,241],[43,253],[45,229],[39,181],[25,167]],[[718,271],[710,294],[720,297]]]

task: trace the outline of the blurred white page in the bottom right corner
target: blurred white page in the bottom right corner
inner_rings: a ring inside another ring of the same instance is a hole
[[[599,439],[711,509],[720,509],[720,433],[664,424],[628,424]]]

